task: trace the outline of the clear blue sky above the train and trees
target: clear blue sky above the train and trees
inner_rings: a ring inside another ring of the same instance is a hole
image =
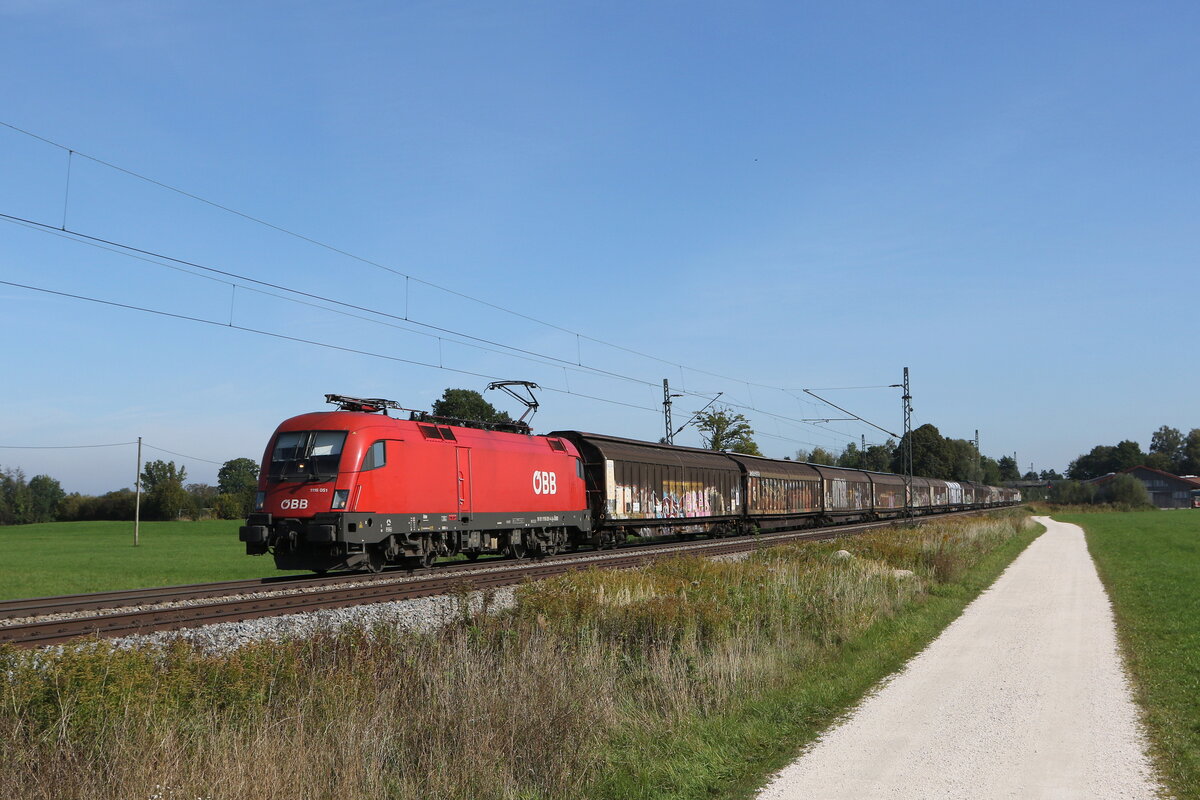
[[[0,213],[374,320],[0,219],[2,281],[218,323],[0,285],[0,445],[142,435],[215,482],[325,392],[479,375],[654,439],[670,378],[782,457],[878,441],[802,390],[908,366],[917,425],[1022,470],[1146,447],[1200,427],[1198,8],[0,0],[0,121],[61,145],[0,127]],[[821,393],[901,426],[894,389]],[[128,446],[0,465],[133,480]]]

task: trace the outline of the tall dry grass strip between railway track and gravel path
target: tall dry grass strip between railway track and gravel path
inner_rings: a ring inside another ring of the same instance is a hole
[[[0,796],[588,796],[623,735],[769,688],[953,581],[1019,519],[581,572],[433,634],[0,651]]]

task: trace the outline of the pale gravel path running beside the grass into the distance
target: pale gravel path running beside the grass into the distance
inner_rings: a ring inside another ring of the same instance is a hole
[[[1154,798],[1108,596],[1046,533],[760,800]]]

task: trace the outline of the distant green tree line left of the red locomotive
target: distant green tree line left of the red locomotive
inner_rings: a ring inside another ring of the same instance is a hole
[[[188,483],[187,469],[173,461],[148,462],[139,479],[143,519],[239,519],[253,510],[258,463],[252,458],[227,461],[217,471],[217,486]],[[0,525],[133,519],[136,504],[133,489],[68,494],[49,475],[26,480],[20,469],[0,469]]]

